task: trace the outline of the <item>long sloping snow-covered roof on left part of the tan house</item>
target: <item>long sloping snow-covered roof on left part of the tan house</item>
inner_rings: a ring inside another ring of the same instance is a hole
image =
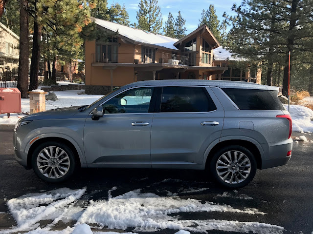
[[[97,25],[103,28],[109,29],[113,32],[118,31],[119,35],[124,36],[128,39],[131,39],[134,42],[161,46],[161,47],[165,47],[165,48],[172,49],[172,50],[178,50],[174,46],[174,43],[178,41],[178,39],[169,38],[169,37],[154,34],[154,33],[149,33],[141,29],[136,29],[136,28],[125,26],[125,25],[120,25],[118,23],[113,23],[113,22],[106,21],[106,20],[100,20],[96,18],[93,18],[93,20]]]

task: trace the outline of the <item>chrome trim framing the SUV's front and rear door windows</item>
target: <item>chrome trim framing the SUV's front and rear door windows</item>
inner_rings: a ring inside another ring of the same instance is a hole
[[[209,86],[209,85],[151,85],[151,86],[150,85],[144,85],[144,86],[136,86],[136,87],[130,87],[128,89],[121,90],[121,92],[119,92],[116,95],[112,96],[111,98],[105,100],[100,105],[102,106],[107,101],[111,100],[112,98],[116,97],[117,95],[119,95],[119,94],[121,94],[121,93],[123,93],[125,91],[131,90],[131,89],[136,89],[136,88],[147,88],[147,87],[216,87],[216,86]],[[217,88],[219,88],[219,87],[217,87]],[[226,95],[226,97],[228,98],[227,95]],[[100,106],[100,105],[98,105],[98,106]],[[212,112],[215,112],[215,111],[217,111],[217,109],[214,110],[214,111],[208,111],[208,112],[148,112],[148,113],[114,113],[114,114],[103,114],[103,115],[110,115],[110,116],[112,116],[112,115],[142,115],[142,114],[206,114],[206,113],[212,113]],[[89,116],[90,115],[92,115],[92,110],[89,113]]]

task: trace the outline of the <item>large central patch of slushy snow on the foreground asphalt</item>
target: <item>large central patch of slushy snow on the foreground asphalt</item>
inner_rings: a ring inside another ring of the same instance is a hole
[[[152,232],[161,229],[184,229],[192,232],[205,232],[211,227],[210,222],[219,220],[202,221],[207,229],[189,228],[198,222],[195,220],[179,220],[178,216],[169,214],[179,212],[232,212],[250,215],[265,215],[257,209],[235,209],[229,205],[214,204],[213,202],[201,203],[196,199],[182,199],[180,197],[161,197],[153,193],[140,193],[140,189],[119,195],[109,200],[90,201],[89,207],[84,211],[77,223],[96,223],[109,229],[123,229],[134,227],[134,231]],[[170,221],[169,221],[170,220]],[[240,224],[242,225],[242,224]],[[239,225],[239,226],[240,226]],[[225,228],[227,225],[224,225]],[[189,228],[189,229],[188,229]],[[221,229],[224,230],[224,229]],[[230,229],[226,229],[230,230]]]

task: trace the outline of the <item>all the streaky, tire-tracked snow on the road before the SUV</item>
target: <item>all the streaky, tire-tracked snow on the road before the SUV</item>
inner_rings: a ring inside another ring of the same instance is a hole
[[[164,182],[166,180],[151,184],[150,187],[153,188],[156,184]],[[124,188],[120,189],[123,191]],[[267,215],[255,208],[237,209],[227,204],[184,199],[178,195],[161,196],[157,195],[157,191],[156,193],[146,193],[144,189],[136,189],[123,194],[120,193],[118,186],[114,186],[108,191],[107,199],[94,201],[84,196],[86,190],[87,188],[76,190],[61,188],[10,199],[7,201],[7,206],[17,221],[17,226],[9,230],[0,230],[0,233],[29,231],[28,234],[104,234],[101,231],[105,231],[105,229],[126,230],[127,228],[134,228],[133,232],[135,233],[164,229],[180,230],[177,234],[207,233],[208,230],[257,234],[282,234],[284,231],[283,227],[267,223],[218,219],[181,220],[179,216],[180,213],[190,212]],[[196,189],[192,188],[191,190],[197,193]],[[121,195],[114,196],[112,195],[113,191],[114,194]],[[199,191],[203,190],[199,189]],[[178,191],[180,194],[182,192],[183,190]],[[224,193],[221,196],[231,196],[238,202],[243,197],[244,199],[248,197],[239,194],[238,191],[229,192],[226,195]],[[248,199],[253,198],[249,197]],[[53,221],[45,227],[39,227],[41,220]],[[71,220],[76,221],[72,227],[67,227],[62,231],[53,231],[54,225],[59,221],[68,223]],[[111,232],[110,234],[116,233]]]

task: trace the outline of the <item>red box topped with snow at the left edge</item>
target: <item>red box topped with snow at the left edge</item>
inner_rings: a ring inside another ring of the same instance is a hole
[[[0,88],[0,114],[21,113],[21,92],[17,88]]]

